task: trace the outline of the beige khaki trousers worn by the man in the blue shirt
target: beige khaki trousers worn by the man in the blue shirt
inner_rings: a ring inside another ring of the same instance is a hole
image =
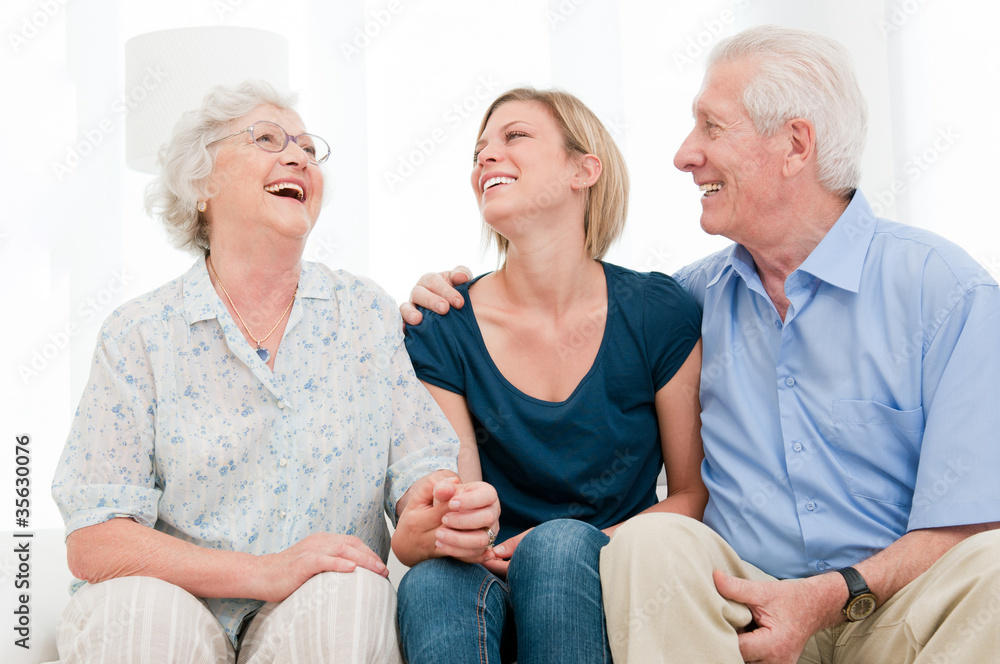
[[[712,571],[768,576],[704,524],[635,517],[601,553],[608,636],[617,664],[742,662],[735,629],[749,609],[723,599]],[[1000,531],[961,542],[867,619],[810,639],[800,664],[1000,661]]]

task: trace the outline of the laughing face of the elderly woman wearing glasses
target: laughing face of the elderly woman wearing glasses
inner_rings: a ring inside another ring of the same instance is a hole
[[[289,136],[306,131],[295,111],[261,105],[230,123],[226,133],[259,120],[280,125]],[[304,242],[323,202],[323,172],[309,156],[293,141],[281,152],[267,152],[249,132],[222,141],[209,178],[210,235],[236,232],[273,241],[277,234]]]

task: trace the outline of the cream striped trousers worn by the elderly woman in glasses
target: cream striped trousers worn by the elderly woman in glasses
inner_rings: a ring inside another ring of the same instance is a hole
[[[401,664],[396,593],[364,569],[317,574],[251,620],[237,653],[203,601],[150,577],[87,584],[56,636],[61,664]]]

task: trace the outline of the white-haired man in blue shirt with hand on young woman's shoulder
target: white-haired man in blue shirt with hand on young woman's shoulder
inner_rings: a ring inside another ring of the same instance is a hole
[[[721,42],[694,116],[674,164],[735,243],[676,275],[704,309],[710,500],[705,524],[639,516],[605,548],[615,661],[995,661],[997,284],[857,191],[866,111],[837,42]]]

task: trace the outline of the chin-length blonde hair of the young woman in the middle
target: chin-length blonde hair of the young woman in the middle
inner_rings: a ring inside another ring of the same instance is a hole
[[[490,104],[479,125],[482,136],[490,116],[500,106],[512,101],[534,101],[544,105],[562,130],[570,155],[592,154],[601,160],[601,174],[587,190],[583,217],[585,246],[591,258],[600,260],[625,228],[628,216],[628,169],[614,139],[594,112],[575,96],[561,90],[514,88]],[[487,241],[496,242],[501,260],[507,254],[507,238],[484,224]]]

